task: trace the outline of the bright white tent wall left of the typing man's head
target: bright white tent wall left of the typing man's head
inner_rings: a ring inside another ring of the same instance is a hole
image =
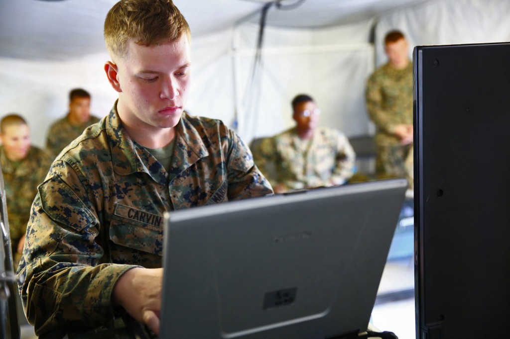
[[[73,88],[90,92],[92,114],[104,117],[117,97],[103,70],[107,58],[105,53],[67,62],[0,59],[0,115],[23,116],[39,147],[46,144],[49,125],[67,114]]]

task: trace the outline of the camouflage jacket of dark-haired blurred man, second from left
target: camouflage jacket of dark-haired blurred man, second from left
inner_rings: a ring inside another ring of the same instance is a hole
[[[99,118],[90,116],[89,121],[85,124],[73,126],[69,122],[68,116],[69,114],[49,126],[46,149],[54,156],[57,156],[72,140],[79,137],[85,128],[99,121]]]

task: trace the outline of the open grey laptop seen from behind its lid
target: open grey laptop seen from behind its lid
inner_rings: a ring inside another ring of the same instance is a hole
[[[357,337],[406,188],[393,179],[168,213],[160,337]]]

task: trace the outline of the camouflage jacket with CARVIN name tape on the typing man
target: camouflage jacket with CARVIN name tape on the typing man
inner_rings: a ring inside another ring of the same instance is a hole
[[[221,121],[183,114],[175,132],[167,172],[127,135],[114,106],[53,162],[18,269],[38,335],[111,325],[117,278],[134,265],[161,267],[165,211],[272,194],[248,148]]]

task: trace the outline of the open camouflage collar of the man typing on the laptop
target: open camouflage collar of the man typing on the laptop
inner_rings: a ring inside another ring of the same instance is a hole
[[[169,173],[155,157],[127,134],[117,112],[117,103],[106,119],[106,131],[111,144],[113,168],[119,175],[143,172],[154,181],[165,185],[196,161],[209,155],[202,136],[189,122],[186,114],[183,114],[175,126],[175,146]]]

